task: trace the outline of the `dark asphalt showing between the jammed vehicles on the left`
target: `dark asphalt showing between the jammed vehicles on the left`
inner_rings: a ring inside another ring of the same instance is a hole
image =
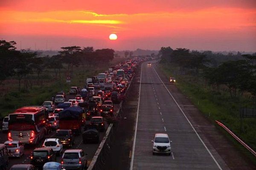
[[[74,95],[67,95],[67,100],[68,99],[75,99]],[[119,104],[114,104],[114,114],[116,114],[116,111],[119,108]],[[99,115],[100,116],[100,115]],[[108,124],[107,122],[105,122],[105,129],[108,128]],[[53,131],[51,134],[47,135],[46,138],[51,138],[52,136],[54,136],[55,131]],[[100,132],[100,141],[102,140],[102,138],[105,135],[105,131],[104,132]],[[7,141],[7,133],[3,133],[0,132],[0,143],[4,143],[5,141]],[[23,156],[21,156],[21,158],[9,158],[9,168],[12,167],[12,165],[14,164],[29,164],[30,163],[30,155],[31,152],[35,149],[35,147],[41,147],[42,143],[44,142],[44,140],[41,140],[40,144],[38,144],[37,146],[33,146],[33,145],[25,145],[25,154]],[[84,150],[85,153],[87,153],[87,159],[88,159],[88,166],[90,164],[90,161],[92,160],[96,150],[99,147],[99,144],[83,144],[82,143],[82,135],[76,136],[75,138],[75,145],[72,148],[69,147],[64,147],[64,151],[67,149],[82,149]],[[57,162],[61,162],[61,156],[57,157]]]

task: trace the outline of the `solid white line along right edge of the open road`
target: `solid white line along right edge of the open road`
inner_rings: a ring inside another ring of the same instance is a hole
[[[153,67],[154,68],[154,67]],[[154,68],[155,73],[157,74],[157,71]],[[160,79],[160,81],[163,83],[164,87],[166,88],[166,90],[168,91],[168,93],[170,94],[170,96],[172,97],[173,101],[176,103],[176,105],[178,106],[178,108],[180,109],[181,113],[183,114],[183,116],[186,118],[186,120],[189,122],[189,125],[192,127],[192,129],[195,131],[195,134],[198,136],[199,140],[202,142],[202,144],[204,145],[204,147],[206,148],[206,150],[208,151],[208,153],[210,154],[210,156],[212,157],[213,161],[215,161],[216,165],[218,166],[218,168],[220,170],[222,170],[221,166],[218,164],[218,162],[216,161],[216,159],[214,158],[214,156],[212,155],[212,153],[210,152],[210,150],[208,149],[208,147],[206,146],[206,144],[204,143],[204,141],[201,139],[201,137],[198,135],[197,131],[195,130],[195,128],[193,127],[192,123],[189,121],[189,119],[187,118],[187,116],[185,115],[185,113],[183,112],[183,110],[180,108],[180,105],[176,102],[175,98],[172,96],[172,94],[170,93],[170,91],[168,90],[168,88],[166,87],[166,85],[164,84],[164,82],[162,81],[162,79],[159,77],[159,75],[157,74],[157,77]]]

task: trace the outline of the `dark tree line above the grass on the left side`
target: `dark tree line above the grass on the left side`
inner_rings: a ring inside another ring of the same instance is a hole
[[[18,51],[15,45],[15,41],[0,40],[0,85],[12,77],[18,80],[19,91],[21,82],[24,89],[32,87],[32,77],[36,77],[40,84],[41,75],[49,70],[54,72],[54,79],[61,79],[62,70],[72,77],[76,67],[100,67],[114,58],[114,50],[108,48],[94,50],[93,47],[61,47],[62,51],[57,55],[38,57],[38,52]]]

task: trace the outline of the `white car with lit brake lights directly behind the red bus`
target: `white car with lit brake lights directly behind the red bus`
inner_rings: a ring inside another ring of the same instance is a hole
[[[8,156],[21,157],[24,155],[24,144],[20,141],[6,141],[4,144],[8,150]]]

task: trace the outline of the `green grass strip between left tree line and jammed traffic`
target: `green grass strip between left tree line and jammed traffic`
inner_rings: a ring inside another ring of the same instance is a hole
[[[50,100],[58,91],[68,92],[71,86],[83,88],[88,77],[96,76],[100,72],[108,69],[110,65],[115,65],[125,59],[113,59],[109,65],[104,65],[100,68],[74,68],[74,76],[70,83],[66,82],[65,72],[62,70],[60,80],[50,81],[44,85],[34,85],[32,89],[17,91],[17,84],[9,85],[12,90],[0,98],[0,114],[2,117],[12,113],[17,108],[27,105],[42,105],[44,101]],[[48,75],[54,77],[52,71],[47,72]]]

